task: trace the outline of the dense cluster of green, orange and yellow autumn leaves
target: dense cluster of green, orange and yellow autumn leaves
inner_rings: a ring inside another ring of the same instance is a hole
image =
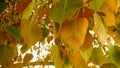
[[[54,40],[47,58],[56,68],[119,68],[119,5],[119,0],[1,0],[0,64],[12,67],[19,60],[17,44],[24,53]],[[32,58],[26,54],[23,63]]]

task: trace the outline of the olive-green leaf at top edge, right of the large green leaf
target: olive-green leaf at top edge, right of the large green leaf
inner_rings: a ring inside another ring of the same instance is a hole
[[[95,10],[96,12],[101,10],[102,5],[105,0],[92,0],[89,4],[89,8]]]

